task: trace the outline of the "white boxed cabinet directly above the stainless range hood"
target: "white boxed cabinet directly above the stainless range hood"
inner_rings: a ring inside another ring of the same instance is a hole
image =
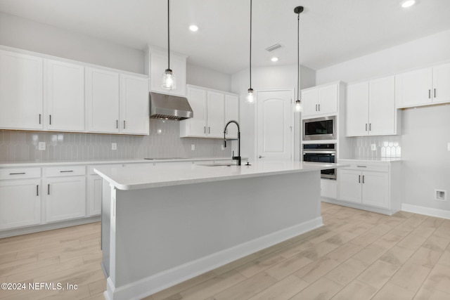
[[[167,93],[176,96],[186,96],[186,56],[180,53],[170,53],[170,70],[176,77],[176,89],[162,89],[162,74],[167,69],[167,50],[147,47],[146,74],[150,76],[150,91]]]

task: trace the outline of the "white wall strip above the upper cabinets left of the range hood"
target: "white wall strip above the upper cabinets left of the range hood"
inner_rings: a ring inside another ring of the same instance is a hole
[[[0,12],[0,44],[143,74],[143,52]]]

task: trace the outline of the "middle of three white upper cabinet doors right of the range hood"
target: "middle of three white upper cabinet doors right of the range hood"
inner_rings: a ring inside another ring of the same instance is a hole
[[[224,137],[225,120],[224,94],[207,91],[207,136],[210,138]]]

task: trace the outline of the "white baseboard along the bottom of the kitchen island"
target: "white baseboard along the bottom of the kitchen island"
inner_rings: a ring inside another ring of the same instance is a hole
[[[279,230],[276,233],[258,237],[255,240],[238,244],[235,247],[210,254],[201,259],[184,263],[181,266],[165,270],[142,280],[131,282],[128,285],[115,288],[111,278],[107,280],[107,289],[104,292],[107,300],[142,299],[167,287],[172,287],[207,271],[224,266],[226,263],[236,261],[249,254],[278,244],[291,237],[296,237],[315,228],[323,226],[322,217],[297,224],[293,227]]]

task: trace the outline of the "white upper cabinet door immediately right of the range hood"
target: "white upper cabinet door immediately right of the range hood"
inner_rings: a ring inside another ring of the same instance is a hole
[[[180,136],[206,136],[206,91],[188,86],[188,100],[194,113],[191,119],[180,121]]]

